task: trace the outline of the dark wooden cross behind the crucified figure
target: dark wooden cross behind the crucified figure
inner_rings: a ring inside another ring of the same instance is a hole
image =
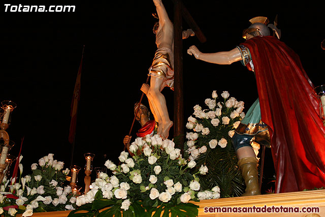
[[[201,43],[206,37],[194,21],[181,0],[172,0],[174,3],[174,138],[179,137],[183,152],[184,144],[184,102],[183,102],[183,46],[182,46],[182,18],[193,30]]]

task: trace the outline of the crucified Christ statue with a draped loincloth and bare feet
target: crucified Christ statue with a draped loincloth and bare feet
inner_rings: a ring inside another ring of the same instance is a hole
[[[153,3],[159,19],[153,28],[157,50],[149,68],[150,85],[143,84],[141,90],[146,94],[151,112],[158,122],[157,134],[167,139],[173,121],[169,118],[166,99],[161,90],[165,86],[174,89],[174,26],[161,0],[153,0]],[[182,38],[189,36],[194,36],[194,32],[191,29],[184,30]]]

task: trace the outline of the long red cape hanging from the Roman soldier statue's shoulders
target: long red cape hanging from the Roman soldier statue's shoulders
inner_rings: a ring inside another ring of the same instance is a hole
[[[251,53],[262,121],[270,130],[276,193],[325,187],[325,128],[298,54],[272,36],[242,44]]]

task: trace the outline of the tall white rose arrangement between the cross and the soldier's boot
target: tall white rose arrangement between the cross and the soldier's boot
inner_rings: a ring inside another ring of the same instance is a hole
[[[207,109],[194,106],[193,115],[188,117],[184,144],[189,160],[196,160],[196,169],[200,171],[200,183],[203,189],[218,185],[221,197],[240,196],[244,182],[237,167],[237,156],[232,145],[232,137],[241,119],[244,102],[230,97],[223,91],[219,100],[217,92],[212,92],[212,99],[206,99]],[[209,171],[208,174],[205,174]],[[201,196],[205,199],[205,195]]]

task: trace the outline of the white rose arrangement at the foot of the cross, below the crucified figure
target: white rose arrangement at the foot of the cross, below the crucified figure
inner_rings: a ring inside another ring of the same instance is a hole
[[[92,190],[77,198],[80,207],[69,217],[93,216],[107,207],[98,216],[198,215],[198,206],[190,203],[202,194],[199,177],[190,173],[195,161],[185,161],[173,141],[158,135],[137,138],[129,149],[132,158],[122,151],[120,165],[110,160],[105,163],[112,175],[101,172],[91,184]],[[218,198],[219,188],[206,194]],[[84,212],[77,213],[79,210]]]

